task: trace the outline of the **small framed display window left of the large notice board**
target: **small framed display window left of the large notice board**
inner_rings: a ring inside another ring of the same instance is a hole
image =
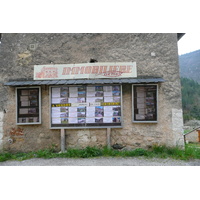
[[[16,88],[17,124],[41,123],[40,87]]]

